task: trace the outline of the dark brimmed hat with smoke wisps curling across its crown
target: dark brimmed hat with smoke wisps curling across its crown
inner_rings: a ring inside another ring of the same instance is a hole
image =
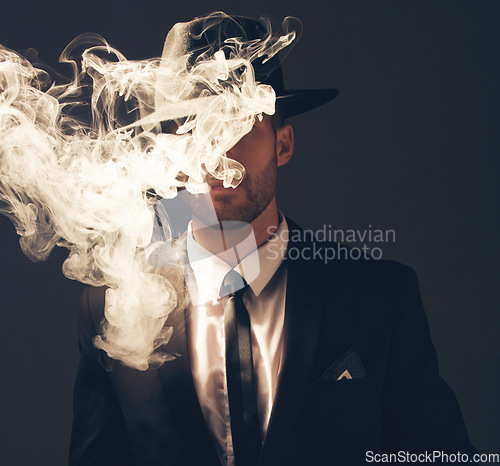
[[[290,43],[300,36],[302,26],[296,18],[285,18],[284,35],[273,35],[270,21],[244,16],[230,16],[222,12],[177,23],[168,33],[162,59],[185,57],[188,68],[223,51],[226,58],[250,62],[255,80],[274,89],[280,114],[288,118],[319,107],[338,95],[337,89],[284,88],[283,71],[278,58],[290,50]],[[292,32],[288,32],[292,31]],[[286,48],[285,52],[281,52]]]

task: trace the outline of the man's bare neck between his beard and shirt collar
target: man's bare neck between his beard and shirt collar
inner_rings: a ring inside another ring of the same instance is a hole
[[[239,221],[222,221],[205,225],[197,217],[192,221],[193,237],[198,244],[213,254],[234,248],[253,233],[257,247],[262,246],[279,225],[276,198],[250,224]]]

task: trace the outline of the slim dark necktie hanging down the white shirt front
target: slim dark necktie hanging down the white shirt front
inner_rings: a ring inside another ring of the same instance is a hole
[[[229,295],[224,310],[226,377],[231,433],[236,466],[256,466],[262,447],[253,370],[250,318],[243,302],[248,285],[231,270],[221,296]]]

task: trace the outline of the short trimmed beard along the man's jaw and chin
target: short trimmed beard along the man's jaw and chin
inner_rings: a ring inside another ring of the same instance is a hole
[[[210,193],[187,194],[184,202],[189,206],[192,215],[203,224],[216,225],[220,222],[246,222],[254,221],[273,200],[276,193],[278,169],[276,154],[269,163],[257,174],[245,174],[245,178],[238,186],[244,190],[243,196],[215,194],[216,201],[212,200]],[[227,188],[233,189],[233,188]],[[243,197],[243,201],[241,201]]]

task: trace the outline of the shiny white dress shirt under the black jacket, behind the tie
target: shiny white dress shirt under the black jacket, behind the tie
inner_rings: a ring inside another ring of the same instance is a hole
[[[192,269],[188,278],[192,306],[188,314],[188,345],[196,393],[215,442],[227,466],[234,465],[231,422],[226,386],[224,306],[219,290],[234,268],[249,284],[243,301],[250,316],[252,354],[257,384],[257,404],[263,439],[267,431],[278,383],[285,318],[286,268],[282,252],[288,243],[288,225],[256,249],[253,232],[234,249],[213,255],[187,235]],[[243,258],[242,260],[237,260]],[[237,264],[236,266],[234,266]],[[234,267],[233,267],[234,266]]]

